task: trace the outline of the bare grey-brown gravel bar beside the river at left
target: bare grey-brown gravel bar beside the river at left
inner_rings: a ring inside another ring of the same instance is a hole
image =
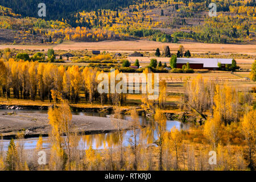
[[[99,134],[115,131],[113,119],[73,115],[73,128],[84,134]],[[129,122],[122,120],[122,129],[129,128]],[[6,114],[0,111],[0,135],[3,138],[15,138],[18,131],[26,130],[26,138],[47,136],[51,130],[48,124],[48,114],[14,113]]]

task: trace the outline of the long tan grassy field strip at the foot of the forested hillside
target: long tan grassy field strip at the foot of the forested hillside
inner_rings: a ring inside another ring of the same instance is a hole
[[[156,48],[162,49],[163,46],[169,46],[171,52],[177,52],[180,45],[185,49],[189,49],[191,53],[243,53],[256,55],[254,44],[205,44],[205,43],[160,43],[150,40],[133,40],[133,41],[102,41],[102,42],[63,42],[52,46],[27,46],[27,45],[10,45],[2,44],[0,49],[15,48],[15,49],[48,49],[55,50],[101,50],[101,51],[118,51],[118,52],[133,52],[133,51],[150,51],[155,52]]]

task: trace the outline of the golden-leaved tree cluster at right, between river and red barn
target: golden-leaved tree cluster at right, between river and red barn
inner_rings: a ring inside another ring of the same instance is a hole
[[[218,113],[225,123],[238,121],[253,103],[249,90],[238,93],[227,83],[203,79],[201,75],[185,83],[184,103],[205,118],[204,113]]]

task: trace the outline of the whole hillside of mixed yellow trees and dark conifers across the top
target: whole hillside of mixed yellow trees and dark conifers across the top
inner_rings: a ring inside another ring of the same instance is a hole
[[[0,28],[14,30],[15,43],[24,43],[28,38],[37,43],[130,38],[174,43],[184,39],[204,43],[255,42],[255,0],[47,0],[43,2],[47,5],[47,19],[51,19],[48,21],[38,19],[39,0],[28,2],[0,0],[6,6],[0,6]],[[216,3],[217,16],[208,15],[211,2]],[[24,37],[15,31],[22,31]]]

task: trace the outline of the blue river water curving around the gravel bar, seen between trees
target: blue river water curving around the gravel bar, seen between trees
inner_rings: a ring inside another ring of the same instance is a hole
[[[42,113],[47,114],[47,110],[1,110],[6,113],[16,112],[16,113]],[[107,117],[105,113],[84,113],[84,112],[72,112],[73,115],[88,115],[88,116],[95,116],[95,117]],[[123,119],[130,120],[130,115],[123,115]],[[143,130],[151,129],[150,123],[152,123],[152,119],[148,119],[144,116],[139,116],[139,121],[141,122],[142,126],[146,126]],[[179,121],[167,121],[166,123],[166,130],[170,131],[172,127],[176,127],[179,130],[188,130],[191,126],[190,123],[181,123]],[[93,134],[93,135],[85,135],[82,136],[80,140],[80,148],[87,149],[90,146],[94,149],[102,149],[104,146],[108,145],[108,140],[113,138],[112,135],[114,133],[109,134]],[[131,136],[133,135],[133,131],[124,131],[123,133],[123,145],[128,146],[130,142],[133,142]],[[156,131],[151,131],[152,142],[157,140]],[[10,140],[0,140],[0,150],[6,151],[8,149]],[[19,142],[15,140],[15,143]],[[31,150],[36,147],[36,143],[38,142],[38,138],[28,138],[23,140],[23,146],[25,150]],[[48,137],[43,137],[43,148],[49,148]]]

